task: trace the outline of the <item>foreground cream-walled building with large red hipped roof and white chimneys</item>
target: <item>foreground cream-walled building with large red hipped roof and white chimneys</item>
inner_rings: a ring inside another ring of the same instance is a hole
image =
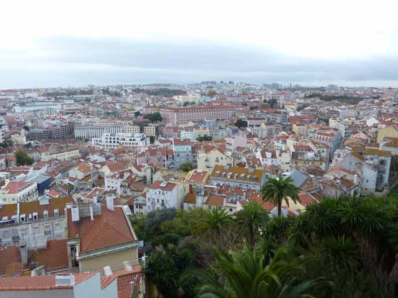
[[[67,209],[69,268],[80,272],[124,268],[123,262],[138,264],[139,242],[128,219],[128,206],[116,207],[106,196],[106,206],[96,203]]]

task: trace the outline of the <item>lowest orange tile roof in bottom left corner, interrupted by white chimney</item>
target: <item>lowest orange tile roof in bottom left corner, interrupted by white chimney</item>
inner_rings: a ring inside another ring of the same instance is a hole
[[[99,274],[98,272],[75,273],[75,285]],[[56,286],[56,275],[20,276],[0,278],[0,291],[65,290],[73,286]]]

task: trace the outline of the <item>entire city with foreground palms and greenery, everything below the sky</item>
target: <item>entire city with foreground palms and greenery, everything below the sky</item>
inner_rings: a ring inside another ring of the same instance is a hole
[[[335,84],[0,90],[0,297],[394,297],[397,103]]]

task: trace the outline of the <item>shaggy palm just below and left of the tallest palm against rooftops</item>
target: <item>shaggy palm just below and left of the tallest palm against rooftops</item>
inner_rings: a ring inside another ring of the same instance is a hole
[[[268,211],[257,203],[247,202],[243,209],[236,213],[236,220],[247,233],[247,240],[253,249],[258,239],[260,229],[269,221]]]

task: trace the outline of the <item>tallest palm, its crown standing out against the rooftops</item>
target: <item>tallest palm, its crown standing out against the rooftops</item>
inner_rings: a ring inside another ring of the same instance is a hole
[[[278,217],[282,216],[282,201],[289,206],[289,198],[296,204],[301,202],[298,198],[300,189],[294,184],[294,179],[287,177],[284,179],[282,175],[278,178],[270,178],[262,187],[263,201],[271,202],[278,207]]]

